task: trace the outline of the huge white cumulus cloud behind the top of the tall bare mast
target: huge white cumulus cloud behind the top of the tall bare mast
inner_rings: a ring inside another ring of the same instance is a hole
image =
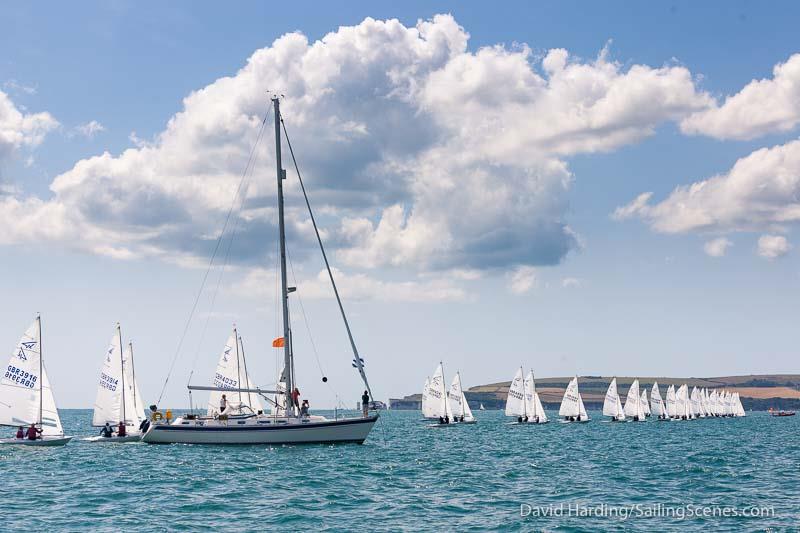
[[[468,42],[449,15],[412,27],[367,18],[314,42],[286,34],[187,95],[151,140],[132,135],[121,153],[78,161],[54,179],[50,198],[0,199],[0,239],[204,261],[266,91],[279,87],[326,242],[349,271],[556,264],[579,245],[566,221],[574,176],[565,158],[637,142],[713,104],[680,65],[622,65],[607,50],[582,60],[555,49],[539,61],[524,45],[471,51]],[[0,97],[0,150],[2,109]],[[33,143],[47,117],[28,116],[17,131]],[[271,148],[260,145],[234,215],[237,264],[273,253]],[[290,243],[302,260],[314,240],[297,188],[287,180]]]

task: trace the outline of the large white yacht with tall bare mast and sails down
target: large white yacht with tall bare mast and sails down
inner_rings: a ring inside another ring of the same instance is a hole
[[[278,197],[278,238],[279,238],[279,256],[280,256],[280,278],[281,278],[281,309],[282,309],[282,325],[283,337],[276,339],[273,346],[282,347],[284,353],[284,378],[285,390],[262,390],[259,388],[239,387],[237,392],[241,393],[255,393],[255,394],[284,394],[286,397],[285,405],[293,405],[292,391],[298,384],[298,377],[295,374],[294,357],[295,354],[292,350],[292,330],[291,321],[289,319],[289,295],[297,290],[296,287],[290,287],[287,276],[287,260],[286,260],[286,229],[285,229],[285,216],[284,216],[284,193],[283,193],[283,180],[286,179],[286,171],[283,169],[281,160],[281,129],[286,131],[283,119],[280,112],[280,98],[275,96],[272,98],[274,109],[274,122],[275,122],[275,162],[276,162],[276,180],[277,180],[277,197]],[[262,124],[266,122],[266,119]],[[260,136],[259,136],[260,138]],[[372,390],[370,389],[367,376],[364,371],[364,360],[358,353],[350,324],[347,321],[347,316],[344,312],[339,291],[336,287],[333,271],[328,262],[328,257],[325,254],[325,248],[322,244],[322,237],[320,236],[319,228],[317,226],[314,213],[311,210],[311,204],[306,194],[306,189],[302,181],[297,161],[294,158],[291,143],[286,139],[288,144],[292,161],[297,171],[297,178],[300,188],[303,192],[306,207],[308,208],[309,220],[311,221],[314,233],[317,237],[317,242],[320,247],[322,258],[325,262],[325,268],[328,272],[328,277],[331,282],[336,302],[342,316],[345,330],[347,332],[348,340],[350,341],[350,348],[353,352],[353,366],[358,370],[361,379],[364,382],[366,392],[370,398],[374,398]],[[280,342],[278,342],[280,341]],[[279,388],[279,387],[276,387]],[[227,391],[222,387],[203,387],[189,385],[189,390],[212,390],[212,391]],[[446,403],[446,402],[445,402]],[[351,417],[351,418],[338,418],[328,419],[322,416],[303,416],[297,413],[294,409],[286,410],[284,416],[275,416],[273,414],[251,414],[244,417],[235,417],[228,419],[227,417],[200,417],[196,415],[180,416],[173,422],[166,420],[154,421],[147,429],[147,432],[142,437],[144,442],[148,443],[187,443],[187,444],[304,444],[304,443],[339,443],[339,442],[356,442],[363,443],[369,435],[375,422],[378,420],[378,414],[364,416],[364,417]]]

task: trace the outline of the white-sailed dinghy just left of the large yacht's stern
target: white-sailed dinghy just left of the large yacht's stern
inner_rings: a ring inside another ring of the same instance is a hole
[[[92,413],[92,426],[109,424],[113,429],[124,421],[125,435],[113,437],[93,436],[89,442],[136,442],[141,440],[139,425],[145,420],[144,405],[133,367],[133,345],[122,349],[122,329],[117,324],[108,350],[103,354],[103,366],[97,383],[97,395]]]

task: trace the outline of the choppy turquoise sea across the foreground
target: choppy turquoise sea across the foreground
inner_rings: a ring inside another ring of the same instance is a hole
[[[800,524],[800,417],[611,424],[595,412],[588,424],[526,427],[505,424],[500,412],[476,414],[473,426],[429,429],[419,412],[386,412],[363,446],[4,447],[0,529],[763,531]],[[94,433],[88,410],[62,411],[62,418],[68,434]],[[530,516],[521,516],[521,504],[531,506]],[[565,516],[534,516],[533,508],[551,504],[563,504]],[[566,516],[570,505],[637,504],[627,519],[619,511]],[[642,516],[658,504],[674,506],[662,508],[672,516]],[[774,506],[774,516],[681,520],[684,505]]]

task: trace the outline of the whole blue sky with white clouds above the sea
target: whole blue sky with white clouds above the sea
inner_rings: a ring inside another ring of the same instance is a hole
[[[377,398],[439,361],[465,386],[797,372],[798,11],[3,5],[0,344],[41,313],[59,406],[90,408],[120,322],[148,403],[184,408],[235,323],[273,385],[281,94]],[[299,387],[352,406],[284,155]]]

